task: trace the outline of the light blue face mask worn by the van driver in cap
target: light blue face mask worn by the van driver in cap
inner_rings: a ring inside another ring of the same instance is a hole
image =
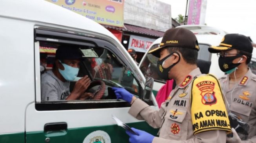
[[[78,75],[79,68],[73,68],[72,66],[64,63],[61,64],[64,66],[64,70],[59,69],[60,74],[64,77],[65,80],[73,81]]]

